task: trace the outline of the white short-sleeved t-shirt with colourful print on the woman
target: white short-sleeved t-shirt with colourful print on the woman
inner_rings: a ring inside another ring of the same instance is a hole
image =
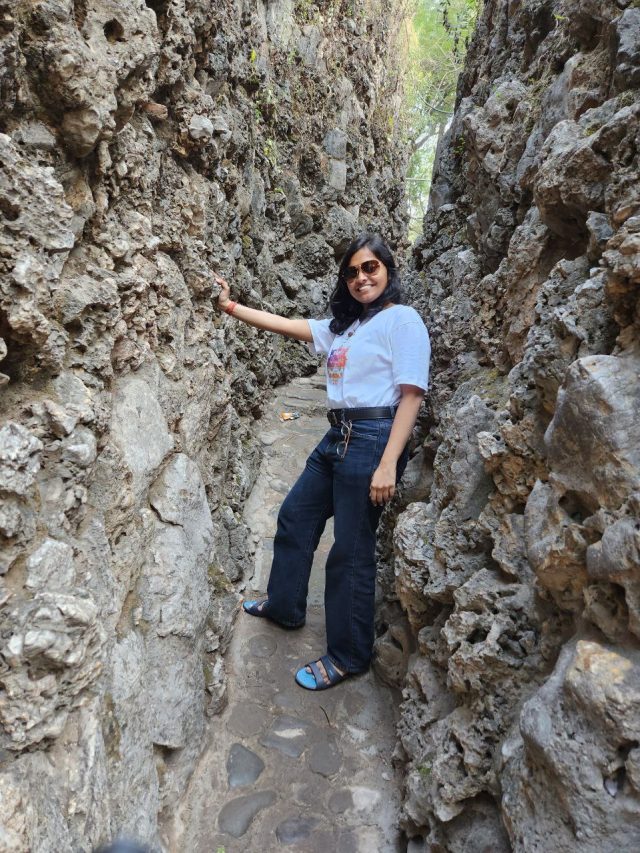
[[[341,335],[329,331],[328,320],[309,320],[314,354],[327,355],[329,408],[394,406],[400,385],[429,384],[429,334],[418,312],[393,305]]]

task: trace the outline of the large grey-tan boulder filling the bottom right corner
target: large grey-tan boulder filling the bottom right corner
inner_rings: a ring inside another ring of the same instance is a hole
[[[559,851],[602,849],[604,838],[609,847],[625,846],[634,838],[636,657],[581,640],[563,651],[525,704],[521,745],[506,761],[503,807],[509,825],[526,833],[528,849],[545,849],[550,822]],[[532,762],[546,772],[529,772]]]

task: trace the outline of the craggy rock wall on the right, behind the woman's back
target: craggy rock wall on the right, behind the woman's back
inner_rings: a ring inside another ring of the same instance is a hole
[[[639,85],[637,2],[486,3],[413,253],[411,850],[640,847]]]

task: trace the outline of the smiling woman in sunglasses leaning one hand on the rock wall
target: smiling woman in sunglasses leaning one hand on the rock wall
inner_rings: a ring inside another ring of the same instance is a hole
[[[302,687],[324,690],[369,667],[376,528],[407,462],[427,389],[429,336],[418,313],[400,304],[393,256],[374,234],[354,240],[342,259],[332,319],[289,319],[238,305],[226,281],[216,281],[218,305],[227,314],[327,355],[331,428],[280,509],[267,597],[243,604],[251,616],[301,627],[313,554],[334,517],[325,581],[327,654],[296,673]]]

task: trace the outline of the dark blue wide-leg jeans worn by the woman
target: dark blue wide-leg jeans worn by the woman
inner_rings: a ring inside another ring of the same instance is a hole
[[[363,672],[371,659],[376,528],[382,507],[371,503],[369,487],[391,425],[391,419],[354,421],[343,458],[340,427],[331,427],[307,459],[278,515],[268,611],[289,627],[305,619],[313,555],[327,519],[334,516],[325,579],[327,651],[346,672]],[[406,464],[405,449],[397,479]]]

